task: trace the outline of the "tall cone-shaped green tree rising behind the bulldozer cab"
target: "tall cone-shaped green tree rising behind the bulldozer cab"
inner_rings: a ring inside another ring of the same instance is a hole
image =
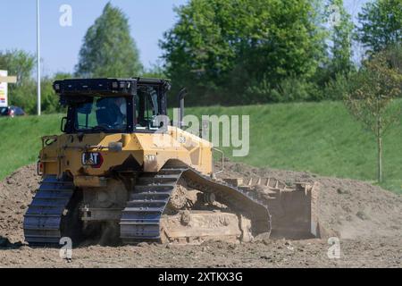
[[[119,8],[106,4],[88,29],[76,71],[80,77],[134,77],[142,71],[129,21]]]

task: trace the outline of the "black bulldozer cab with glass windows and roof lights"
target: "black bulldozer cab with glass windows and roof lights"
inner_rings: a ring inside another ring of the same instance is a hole
[[[155,132],[167,115],[168,80],[58,80],[54,90],[68,108],[65,133]]]

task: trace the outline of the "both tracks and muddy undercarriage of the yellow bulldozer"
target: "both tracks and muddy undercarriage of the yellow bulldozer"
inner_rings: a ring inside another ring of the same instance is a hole
[[[121,183],[114,189],[123,186]],[[72,181],[45,178],[25,216],[24,232],[29,244],[55,245],[63,237],[71,237],[76,244],[85,234],[94,235],[94,230],[105,232],[93,227],[100,224],[108,225],[109,230],[112,226],[114,239],[125,244],[239,242],[271,231],[268,206],[253,192],[188,168],[166,165],[160,172],[140,174],[133,188],[122,192],[128,197],[123,208],[108,206],[107,199],[103,199],[112,196],[116,200],[119,192],[113,189],[108,194],[96,189],[84,191],[88,192],[103,200],[104,208],[86,206]]]

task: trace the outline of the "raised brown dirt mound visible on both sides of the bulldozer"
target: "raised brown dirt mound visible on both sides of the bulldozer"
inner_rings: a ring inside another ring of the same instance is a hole
[[[225,163],[225,172],[219,177],[272,177],[288,183],[318,181],[319,223],[329,235],[362,239],[398,237],[402,233],[402,197],[366,182],[231,162]],[[38,189],[39,180],[36,165],[29,165],[0,183],[0,236],[11,242],[23,241],[23,214]]]

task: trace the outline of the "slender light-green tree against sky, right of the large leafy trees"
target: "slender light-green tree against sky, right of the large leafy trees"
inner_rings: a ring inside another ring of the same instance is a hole
[[[330,0],[329,8],[334,9],[330,17],[334,17],[331,29],[331,74],[336,77],[337,74],[348,74],[352,71],[352,33],[355,25],[351,20],[350,14],[344,7],[343,0]]]

